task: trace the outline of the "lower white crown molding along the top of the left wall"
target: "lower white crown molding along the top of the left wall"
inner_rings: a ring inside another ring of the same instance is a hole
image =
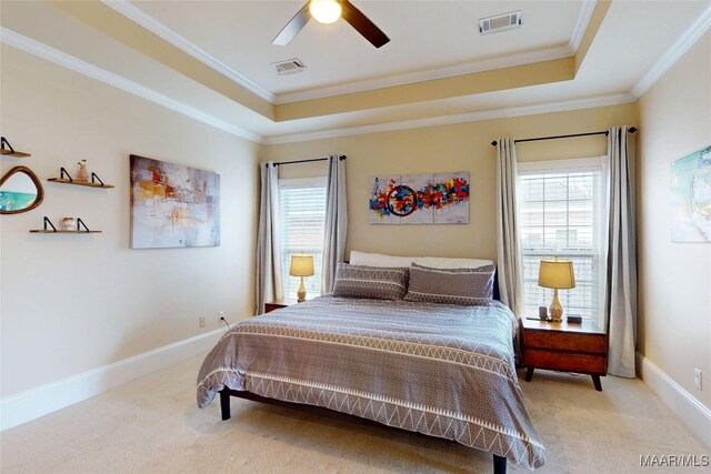
[[[188,115],[192,119],[199,120],[233,135],[247,139],[256,143],[262,143],[263,141],[262,137],[256,133],[249,132],[244,129],[227,123],[220,119],[208,115],[207,113],[200,112],[199,110],[193,109],[190,105],[173,100],[168,95],[157,92],[150,88],[128,80],[113,72],[107,71],[106,69],[101,69],[71,54],[67,54],[66,52],[59,51],[52,47],[24,37],[4,27],[0,27],[0,42],[22,50],[27,53],[33,54],[38,58],[53,62],[54,64],[70,69],[80,74],[87,75],[97,81],[112,85],[117,89],[121,89],[133,95],[138,95],[151,102],[158,103],[159,105],[162,105],[167,109],[182,113],[183,115]]]

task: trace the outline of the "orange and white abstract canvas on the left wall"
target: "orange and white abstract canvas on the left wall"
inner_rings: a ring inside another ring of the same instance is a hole
[[[220,245],[220,175],[131,155],[131,249]]]

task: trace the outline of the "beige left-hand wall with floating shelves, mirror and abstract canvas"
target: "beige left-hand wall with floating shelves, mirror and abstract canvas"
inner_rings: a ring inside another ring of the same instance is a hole
[[[2,134],[44,185],[33,211],[0,216],[2,396],[219,327],[252,313],[257,145],[2,47]],[[221,175],[221,246],[129,250],[129,154]],[[47,182],[88,160],[112,190]],[[47,215],[92,235],[30,234]],[[207,326],[198,327],[199,315]]]

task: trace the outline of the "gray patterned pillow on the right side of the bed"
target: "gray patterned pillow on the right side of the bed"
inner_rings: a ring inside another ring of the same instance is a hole
[[[432,269],[413,263],[407,301],[488,305],[493,299],[494,265],[477,269]]]

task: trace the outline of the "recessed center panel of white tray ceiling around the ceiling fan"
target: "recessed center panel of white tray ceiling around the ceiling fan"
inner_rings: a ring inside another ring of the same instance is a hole
[[[525,2],[525,28],[479,34],[478,19],[522,8],[521,1],[358,1],[390,42],[373,48],[344,20],[309,21],[287,47],[271,41],[299,1],[133,2],[188,41],[272,94],[443,68],[568,44],[582,1]],[[554,19],[554,21],[551,21]],[[299,58],[307,70],[277,75],[272,62]]]

